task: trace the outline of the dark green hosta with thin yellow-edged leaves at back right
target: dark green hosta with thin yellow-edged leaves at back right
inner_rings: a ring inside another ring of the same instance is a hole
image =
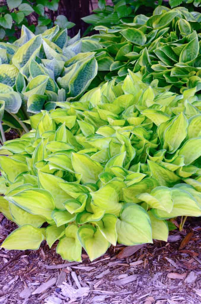
[[[196,86],[200,77],[200,22],[199,12],[165,6],[158,6],[151,17],[137,15],[130,21],[118,18],[111,27],[100,21],[95,27],[100,34],[90,38],[104,48],[96,54],[97,78],[119,82],[129,68],[141,71],[146,83],[157,79],[160,86],[169,84],[177,93],[191,85],[192,75]]]

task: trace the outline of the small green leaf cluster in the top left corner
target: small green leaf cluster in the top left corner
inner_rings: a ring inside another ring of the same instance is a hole
[[[30,3],[25,0],[6,0],[5,5],[0,7],[0,40],[9,41],[10,43],[15,41],[17,39],[15,33],[21,29],[22,25],[26,25],[29,30],[36,34],[43,33],[48,28],[51,28],[53,20],[49,18],[47,10],[57,11],[59,1],[36,0]],[[30,22],[33,13],[37,14],[38,24],[36,26]],[[57,16],[56,24],[61,29],[70,29],[75,25],[62,15]]]

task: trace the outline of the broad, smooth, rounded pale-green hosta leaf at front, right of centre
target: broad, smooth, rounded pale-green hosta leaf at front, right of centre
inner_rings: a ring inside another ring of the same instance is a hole
[[[125,204],[117,220],[118,243],[127,246],[152,243],[152,227],[147,212],[137,204]]]

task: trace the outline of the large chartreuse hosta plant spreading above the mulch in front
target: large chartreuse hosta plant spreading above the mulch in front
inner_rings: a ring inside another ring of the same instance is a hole
[[[201,215],[197,89],[178,95],[141,79],[129,71],[79,102],[57,102],[4,144],[0,211],[19,228],[2,247],[59,240],[63,259],[81,261],[83,247],[93,261],[116,242],[167,241],[168,219]]]

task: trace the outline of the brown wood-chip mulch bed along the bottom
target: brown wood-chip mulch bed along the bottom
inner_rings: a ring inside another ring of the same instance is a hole
[[[15,228],[0,214],[0,243]],[[83,251],[83,263],[66,263],[56,254],[56,243],[49,249],[43,242],[36,251],[1,248],[0,303],[199,304],[200,219],[190,218],[184,228],[172,231],[168,243],[154,241],[135,253],[117,245],[93,262]],[[88,291],[69,298],[59,288],[63,281],[67,288]],[[56,302],[47,301],[50,295]]]

